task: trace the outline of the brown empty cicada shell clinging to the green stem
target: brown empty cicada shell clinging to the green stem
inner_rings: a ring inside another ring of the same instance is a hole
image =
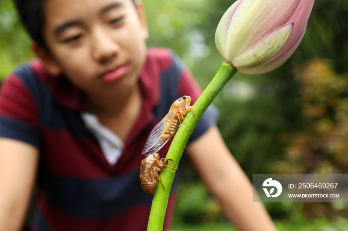
[[[140,167],[140,182],[146,193],[149,193],[150,195],[155,194],[158,180],[162,184],[163,189],[166,190],[158,172],[161,172],[166,167],[177,170],[168,166],[168,161],[174,160],[165,158],[160,159],[158,153],[154,153],[142,160]]]

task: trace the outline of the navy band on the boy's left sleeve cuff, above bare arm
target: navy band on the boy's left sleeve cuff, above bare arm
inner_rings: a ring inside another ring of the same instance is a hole
[[[40,131],[26,123],[0,116],[0,136],[20,140],[39,148],[42,145]]]

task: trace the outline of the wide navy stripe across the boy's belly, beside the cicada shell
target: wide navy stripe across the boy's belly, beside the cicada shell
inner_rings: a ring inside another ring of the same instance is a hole
[[[150,205],[153,199],[141,187],[139,171],[103,179],[47,174],[46,189],[52,205],[84,219],[112,217],[134,205]]]

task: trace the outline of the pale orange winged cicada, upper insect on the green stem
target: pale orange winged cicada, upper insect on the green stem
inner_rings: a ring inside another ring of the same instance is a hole
[[[148,156],[157,153],[167,143],[174,135],[186,114],[189,111],[193,113],[190,103],[191,97],[182,96],[172,104],[169,113],[151,131],[142,154]]]

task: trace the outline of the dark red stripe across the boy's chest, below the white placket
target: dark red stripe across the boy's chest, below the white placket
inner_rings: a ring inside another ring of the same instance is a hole
[[[78,178],[102,178],[129,171],[139,171],[141,161],[146,157],[141,155],[143,149],[141,144],[145,144],[147,136],[139,136],[140,138],[143,139],[143,142],[134,139],[134,142],[125,147],[116,165],[111,166],[105,159],[97,141],[76,138],[64,130],[45,130],[42,158],[45,168],[50,173]],[[160,150],[161,158],[166,156],[171,142],[170,140]]]

